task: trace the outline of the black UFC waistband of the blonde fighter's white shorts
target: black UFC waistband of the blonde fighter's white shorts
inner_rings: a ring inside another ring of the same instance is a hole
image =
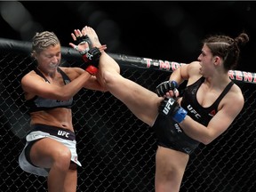
[[[51,126],[46,124],[33,124],[31,132],[35,131],[47,132],[53,136],[59,137],[64,140],[76,140],[75,132],[71,132],[68,129],[63,129],[57,126]]]

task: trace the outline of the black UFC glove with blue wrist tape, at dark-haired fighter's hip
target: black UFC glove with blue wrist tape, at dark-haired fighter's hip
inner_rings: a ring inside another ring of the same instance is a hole
[[[172,116],[172,119],[179,124],[188,114],[188,112],[184,108],[181,108],[179,103],[173,98],[164,98],[158,111],[165,116]]]

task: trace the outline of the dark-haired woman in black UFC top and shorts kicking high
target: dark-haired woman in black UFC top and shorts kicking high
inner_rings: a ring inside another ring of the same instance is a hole
[[[99,45],[92,28],[85,27],[84,35],[92,47]],[[235,39],[204,39],[198,61],[173,71],[170,82],[157,86],[158,95],[120,76],[116,61],[109,60],[106,52],[101,54],[100,83],[156,131],[156,192],[179,192],[189,155],[200,143],[207,145],[218,138],[239,115],[244,96],[229,79],[228,70],[236,66],[239,47],[248,40],[245,33]],[[180,97],[175,91],[185,80],[187,87]]]

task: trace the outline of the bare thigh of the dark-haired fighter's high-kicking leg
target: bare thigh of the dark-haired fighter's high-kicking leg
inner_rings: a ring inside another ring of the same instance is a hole
[[[121,100],[132,113],[148,125],[152,125],[158,114],[160,101],[155,92],[131,81],[124,76],[102,71],[105,87],[118,100]]]

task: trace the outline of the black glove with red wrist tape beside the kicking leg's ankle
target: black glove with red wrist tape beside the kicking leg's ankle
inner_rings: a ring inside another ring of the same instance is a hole
[[[93,76],[98,72],[100,55],[101,52],[97,47],[93,47],[88,52],[84,52],[84,54],[82,54],[83,60],[87,66],[85,70]]]

